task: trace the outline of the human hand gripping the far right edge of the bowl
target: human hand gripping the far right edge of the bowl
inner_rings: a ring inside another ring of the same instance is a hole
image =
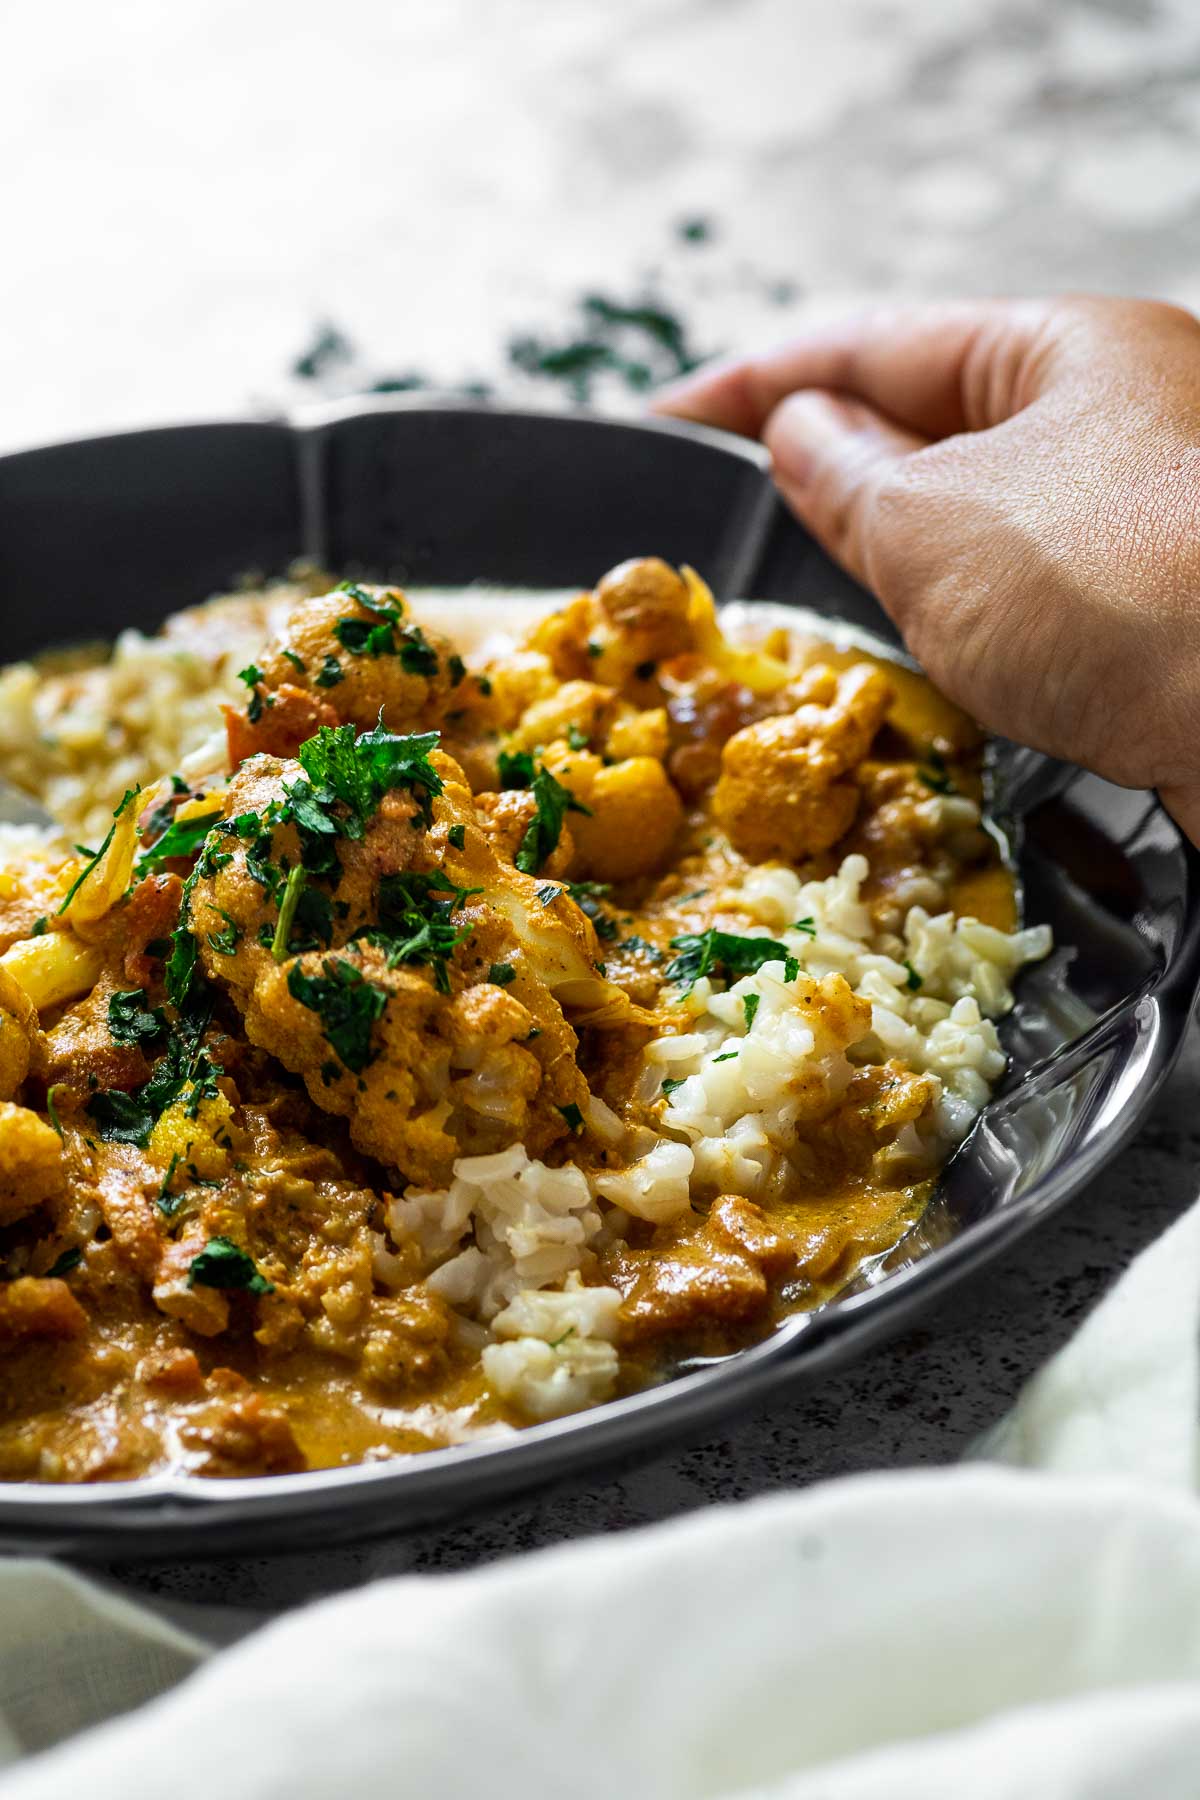
[[[1200,844],[1200,322],[1153,301],[898,308],[657,398],[775,482],[982,725]]]

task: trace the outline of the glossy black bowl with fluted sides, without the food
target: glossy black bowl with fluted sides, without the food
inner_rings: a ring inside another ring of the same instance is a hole
[[[0,457],[7,657],[155,625],[299,554],[419,585],[570,587],[646,553],[694,563],[720,598],[802,603],[896,641],[779,504],[763,452],[718,432],[401,398]],[[1150,794],[1004,745],[993,778],[1027,920],[1063,949],[1025,977],[1004,1087],[925,1219],[846,1294],[511,1442],[234,1481],[0,1483],[0,1548],[223,1553],[450,1517],[705,1431],[909,1325],[1007,1249],[1110,1161],[1175,1060],[1200,974],[1200,859]]]

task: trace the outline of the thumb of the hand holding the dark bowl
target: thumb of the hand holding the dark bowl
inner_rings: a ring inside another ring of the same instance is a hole
[[[775,486],[801,524],[853,576],[874,585],[878,491],[928,437],[892,425],[860,400],[804,389],[775,407],[763,443]]]

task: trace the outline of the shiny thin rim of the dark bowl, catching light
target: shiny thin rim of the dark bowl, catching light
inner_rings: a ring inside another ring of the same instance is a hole
[[[509,419],[560,416],[529,407],[464,403],[453,396],[421,392],[302,407],[268,421],[196,423],[288,425],[299,434],[304,472],[304,445],[324,427],[390,412],[468,412]],[[570,418],[581,419],[579,414]],[[675,419],[583,418],[604,430],[635,428],[667,437],[700,439],[754,464],[763,473],[770,466],[759,445],[725,432]],[[185,432],[189,427],[162,427],[162,430]],[[133,432],[106,434],[106,439],[126,436]],[[88,445],[94,439],[85,437],[76,443]],[[27,450],[13,452],[13,455],[27,454]],[[7,459],[0,457],[0,463],[4,461]],[[309,504],[318,513],[315,497],[309,497]],[[304,545],[304,553],[318,554],[320,544]],[[1187,895],[1173,954],[1146,990],[1119,1008],[1123,1017],[1139,1024],[1146,1039],[1144,1067],[1135,1094],[1094,1132],[1085,1154],[1047,1168],[1018,1201],[970,1224],[930,1255],[889,1274],[883,1283],[842,1300],[837,1309],[797,1316],[766,1341],[727,1361],[608,1402],[590,1413],[531,1426],[502,1442],[426,1451],[407,1462],[356,1463],[302,1474],[234,1480],[157,1474],[83,1487],[0,1483],[0,1550],[41,1548],[131,1561],[171,1552],[219,1555],[243,1552],[246,1546],[282,1548],[302,1541],[306,1525],[315,1535],[320,1534],[322,1543],[403,1530],[443,1514],[459,1516],[475,1510],[538,1483],[560,1481],[596,1467],[644,1456],[718,1424],[736,1409],[757,1406],[774,1391],[819,1375],[873,1341],[891,1336],[934,1296],[1009,1249],[1040,1219],[1076,1193],[1128,1141],[1151,1107],[1178,1053],[1200,977],[1196,898],[1200,855],[1191,846],[1184,846],[1184,853]],[[1112,1024],[1112,1019],[1101,1019],[1081,1040],[1079,1049]],[[394,1514],[389,1510],[389,1498],[396,1501]]]

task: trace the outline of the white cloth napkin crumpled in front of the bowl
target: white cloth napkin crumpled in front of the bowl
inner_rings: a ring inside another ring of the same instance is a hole
[[[990,1462],[378,1582],[221,1654],[0,1566],[0,1760],[162,1696],[0,1795],[1196,1800],[1198,1364],[1200,1204]]]

